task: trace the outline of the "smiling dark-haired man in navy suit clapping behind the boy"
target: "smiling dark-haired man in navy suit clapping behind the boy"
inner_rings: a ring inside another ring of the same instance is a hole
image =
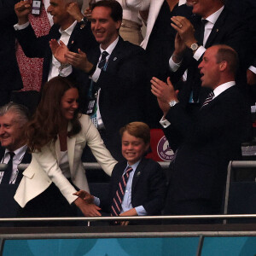
[[[122,159],[119,129],[131,121],[142,120],[145,108],[144,50],[119,36],[121,22],[122,7],[118,2],[97,2],[92,7],[91,31],[100,47],[85,53],[67,51],[65,55],[68,63],[91,78],[84,104],[116,160]],[[105,52],[107,56],[102,57]]]

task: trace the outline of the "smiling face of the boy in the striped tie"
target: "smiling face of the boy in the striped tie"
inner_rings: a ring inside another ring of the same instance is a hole
[[[149,144],[140,137],[134,137],[125,131],[122,137],[122,154],[130,166],[140,160],[148,150]]]

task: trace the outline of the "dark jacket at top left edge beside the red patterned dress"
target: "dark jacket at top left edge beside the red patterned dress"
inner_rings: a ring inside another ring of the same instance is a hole
[[[0,90],[20,90],[23,87],[15,55],[17,0],[0,0]]]

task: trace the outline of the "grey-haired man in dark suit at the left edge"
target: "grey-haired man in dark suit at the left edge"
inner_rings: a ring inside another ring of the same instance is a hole
[[[10,102],[0,108],[0,160],[1,164],[7,164],[7,169],[0,170],[1,218],[16,216],[18,204],[14,195],[22,177],[18,166],[31,162],[24,137],[27,120],[28,110],[22,105]]]

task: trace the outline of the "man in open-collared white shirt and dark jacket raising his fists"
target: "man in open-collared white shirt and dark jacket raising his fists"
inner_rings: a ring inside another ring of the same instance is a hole
[[[43,80],[44,85],[49,79],[58,76],[73,75],[80,84],[80,97],[84,96],[84,84],[87,83],[83,73],[75,68],[61,63],[52,55],[49,48],[51,39],[61,40],[67,48],[77,52],[78,49],[89,50],[95,47],[96,40],[90,31],[90,22],[81,14],[80,0],[51,0],[47,11],[53,16],[54,25],[49,34],[37,38],[32,26],[28,21],[28,14],[32,9],[29,1],[20,1],[15,4],[15,13],[18,17],[18,24],[15,25],[15,36],[24,50],[26,56],[31,58],[44,58]],[[85,79],[85,81],[84,81]]]

